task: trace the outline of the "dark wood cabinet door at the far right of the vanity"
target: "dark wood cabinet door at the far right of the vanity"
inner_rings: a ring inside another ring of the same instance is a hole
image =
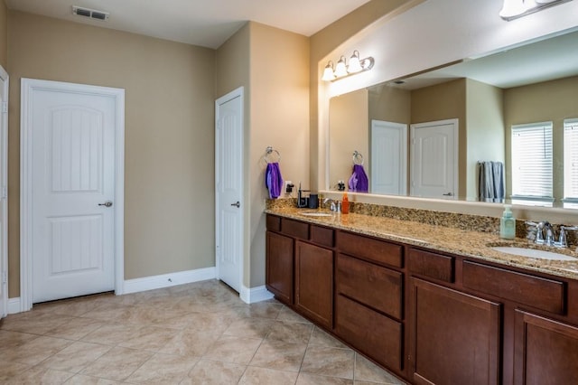
[[[515,339],[515,384],[576,383],[577,327],[517,310]]]

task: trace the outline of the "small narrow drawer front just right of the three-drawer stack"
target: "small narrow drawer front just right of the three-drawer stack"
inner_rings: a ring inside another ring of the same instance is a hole
[[[454,263],[452,257],[418,249],[410,249],[407,256],[409,271],[443,282],[452,283],[454,281]]]

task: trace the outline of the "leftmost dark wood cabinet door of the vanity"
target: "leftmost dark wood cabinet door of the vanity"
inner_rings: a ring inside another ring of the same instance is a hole
[[[294,240],[266,232],[266,287],[285,304],[293,304]]]

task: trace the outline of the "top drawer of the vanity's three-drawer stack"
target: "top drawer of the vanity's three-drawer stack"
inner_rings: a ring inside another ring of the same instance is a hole
[[[341,252],[354,257],[389,265],[403,267],[402,247],[385,240],[363,237],[349,232],[337,232],[337,247]]]

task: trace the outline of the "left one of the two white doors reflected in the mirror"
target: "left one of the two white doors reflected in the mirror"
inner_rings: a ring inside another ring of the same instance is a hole
[[[371,192],[407,193],[407,125],[371,120]]]

